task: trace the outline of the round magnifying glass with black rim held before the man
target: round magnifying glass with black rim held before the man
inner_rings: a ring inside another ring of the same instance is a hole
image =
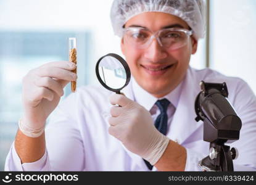
[[[130,82],[131,72],[120,55],[110,53],[101,57],[96,64],[96,75],[104,88],[120,94]]]

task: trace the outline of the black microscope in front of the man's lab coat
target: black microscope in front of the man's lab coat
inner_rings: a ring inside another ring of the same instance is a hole
[[[196,121],[204,121],[204,141],[210,142],[209,155],[199,162],[202,171],[234,171],[233,160],[238,157],[236,148],[225,142],[239,139],[242,122],[229,103],[226,83],[200,82],[201,91],[196,97]]]

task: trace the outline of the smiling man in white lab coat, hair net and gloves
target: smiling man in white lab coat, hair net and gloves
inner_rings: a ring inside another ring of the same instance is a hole
[[[31,70],[23,78],[24,115],[6,170],[145,171],[153,165],[153,171],[198,171],[209,153],[202,121],[194,120],[201,80],[226,82],[242,120],[240,139],[231,144],[240,154],[234,170],[256,170],[254,93],[239,78],[189,67],[204,36],[203,2],[117,0],[111,19],[133,76],[125,96],[85,86],[59,104],[64,86],[76,79],[75,65],[51,62]],[[154,126],[161,114],[164,133]]]

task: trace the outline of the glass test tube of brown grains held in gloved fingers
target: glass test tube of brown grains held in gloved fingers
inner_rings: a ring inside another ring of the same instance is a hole
[[[68,38],[68,51],[69,51],[69,61],[76,64],[76,38]],[[72,70],[76,73],[76,68]],[[75,92],[76,81],[71,82],[71,91]]]

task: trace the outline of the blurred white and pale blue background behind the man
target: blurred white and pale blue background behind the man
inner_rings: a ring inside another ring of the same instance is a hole
[[[205,2],[207,34],[191,66],[237,76],[256,92],[256,1]],[[68,37],[76,37],[78,86],[98,83],[94,68],[102,55],[122,55],[120,38],[110,23],[111,4],[112,0],[0,0],[0,171],[22,115],[22,78],[29,70],[68,60]],[[68,84],[65,96],[70,92]]]

